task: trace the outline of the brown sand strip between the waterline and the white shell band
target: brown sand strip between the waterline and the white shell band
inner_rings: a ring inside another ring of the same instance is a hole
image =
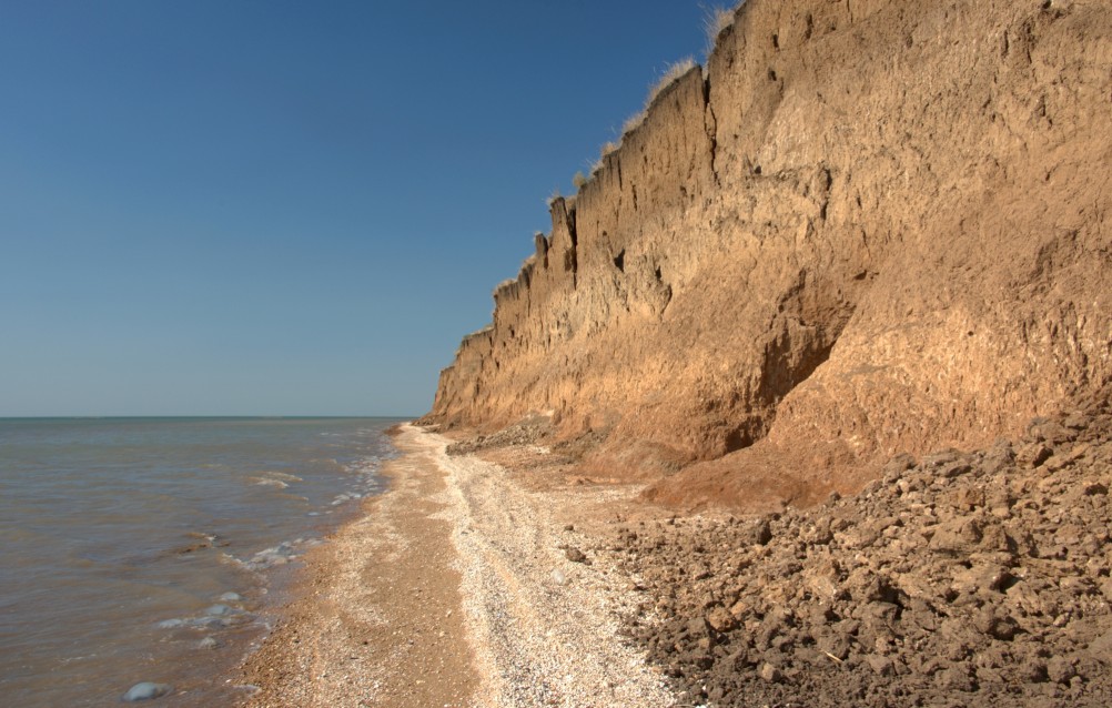
[[[260,689],[242,705],[469,705],[478,680],[436,447],[411,429],[395,442],[390,491],[307,557],[297,599],[242,667]]]

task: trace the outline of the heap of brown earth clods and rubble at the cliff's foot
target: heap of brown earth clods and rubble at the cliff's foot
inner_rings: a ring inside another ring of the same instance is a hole
[[[1112,416],[893,459],[758,519],[626,523],[633,637],[692,704],[1112,705]]]

